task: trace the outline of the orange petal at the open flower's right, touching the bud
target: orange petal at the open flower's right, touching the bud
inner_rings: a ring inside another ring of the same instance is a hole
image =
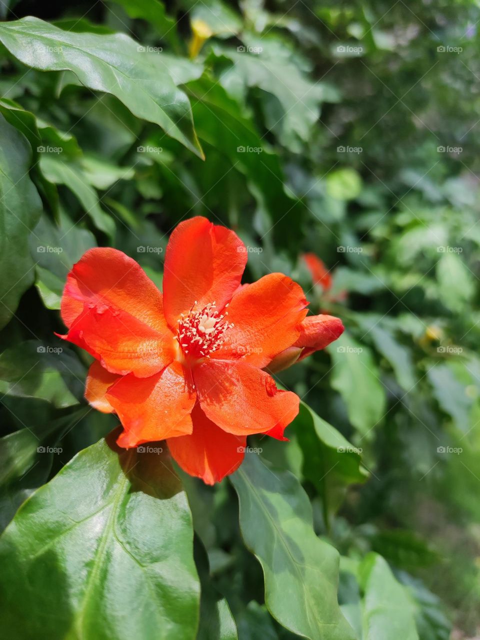
[[[270,273],[238,291],[228,307],[233,323],[215,358],[243,360],[265,367],[291,347],[307,314],[302,287],[283,273]]]

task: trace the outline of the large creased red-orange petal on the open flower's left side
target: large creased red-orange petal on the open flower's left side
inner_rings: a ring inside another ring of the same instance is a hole
[[[162,294],[125,253],[94,248],[68,274],[61,301],[66,339],[112,373],[150,376],[174,357]]]

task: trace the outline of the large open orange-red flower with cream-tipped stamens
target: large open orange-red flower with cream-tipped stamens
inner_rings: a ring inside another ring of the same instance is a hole
[[[300,343],[327,344],[322,316],[306,319],[288,276],[240,287],[246,262],[233,231],[191,218],[170,237],[163,295],[125,253],[94,248],[68,274],[61,303],[62,337],[96,359],[86,398],[118,415],[118,444],[166,439],[180,467],[208,484],[240,465],[247,435],[283,440],[298,413],[298,397],[263,369]]]

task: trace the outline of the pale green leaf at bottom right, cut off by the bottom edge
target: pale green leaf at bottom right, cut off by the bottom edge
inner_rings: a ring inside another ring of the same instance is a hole
[[[368,554],[360,565],[359,577],[364,591],[364,637],[419,640],[412,602],[382,556]]]

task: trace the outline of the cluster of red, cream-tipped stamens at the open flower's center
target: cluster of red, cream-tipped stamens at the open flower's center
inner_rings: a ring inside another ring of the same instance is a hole
[[[206,307],[194,311],[197,301],[188,314],[181,314],[178,321],[178,332],[175,340],[187,358],[210,358],[210,353],[221,348],[226,330],[233,323],[226,321],[228,311],[219,314],[215,307],[215,301],[209,302]],[[225,305],[228,307],[228,305]]]

